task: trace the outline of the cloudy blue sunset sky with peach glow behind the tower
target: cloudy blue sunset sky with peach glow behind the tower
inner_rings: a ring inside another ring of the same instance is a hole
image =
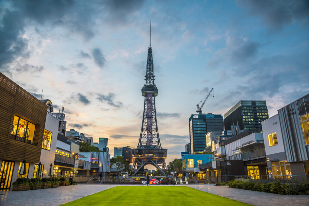
[[[266,100],[269,116],[309,93],[308,1],[0,0],[0,72],[62,105],[67,130],[138,145],[149,22],[159,136],[167,164],[188,119]]]

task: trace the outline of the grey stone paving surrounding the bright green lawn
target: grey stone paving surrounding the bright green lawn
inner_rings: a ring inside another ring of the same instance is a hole
[[[61,205],[116,186],[147,187],[144,185],[81,184],[66,187],[29,190],[0,191],[0,205]],[[211,194],[252,205],[309,205],[309,195],[278,195],[265,192],[214,186],[210,184],[151,185],[149,187],[192,187]],[[205,200],[206,201],[206,200]],[[211,203],[215,204],[215,203]]]

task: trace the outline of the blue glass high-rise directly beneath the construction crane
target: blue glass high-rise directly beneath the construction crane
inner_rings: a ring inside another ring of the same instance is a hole
[[[192,114],[189,118],[191,153],[203,152],[206,147],[206,133],[223,131],[221,114]]]

